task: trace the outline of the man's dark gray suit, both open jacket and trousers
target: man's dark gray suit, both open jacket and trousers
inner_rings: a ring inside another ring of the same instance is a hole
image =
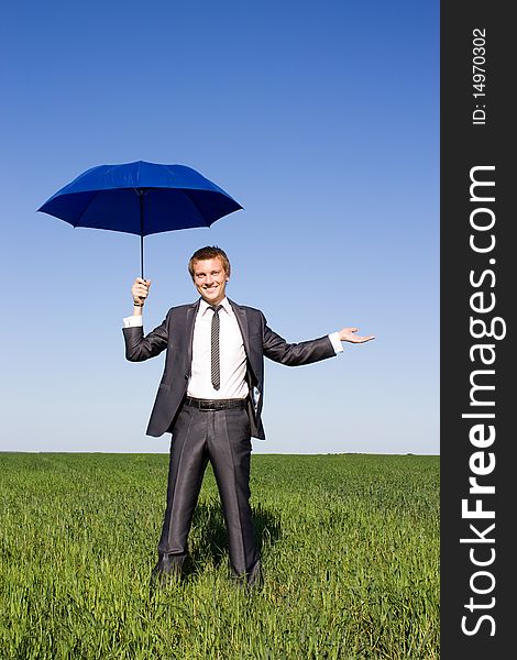
[[[239,322],[248,358],[250,388],[246,411],[205,413],[184,406],[193,359],[193,337],[199,300],[173,307],[164,322],[143,334],[143,328],[124,328],[125,356],[140,362],[166,350],[165,370],[147,427],[148,436],[173,433],[167,509],[158,544],[161,560],[186,554],[186,540],[207,461],[212,463],[229,534],[230,561],[237,575],[252,582],[258,556],[254,540],[250,490],[250,436],[264,439],[261,420],[264,391],[264,355],[297,366],[333,356],[329,338],[287,343],[267,327],[258,309],[230,300]],[[160,563],[160,562],[158,562]],[[165,565],[165,564],[164,564]]]

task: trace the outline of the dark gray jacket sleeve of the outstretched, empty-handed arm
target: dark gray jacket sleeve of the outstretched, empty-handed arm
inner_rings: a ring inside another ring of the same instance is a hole
[[[264,319],[265,322],[265,319]],[[287,343],[284,338],[274,332],[267,324],[263,330],[263,352],[266,358],[288,366],[311,364],[336,355],[329,337],[320,337],[299,343]]]

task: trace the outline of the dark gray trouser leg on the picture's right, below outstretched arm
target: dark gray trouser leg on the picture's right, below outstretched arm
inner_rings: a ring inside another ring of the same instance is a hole
[[[250,584],[258,579],[260,561],[250,507],[250,422],[245,410],[209,413],[207,447],[228,530],[230,564]]]

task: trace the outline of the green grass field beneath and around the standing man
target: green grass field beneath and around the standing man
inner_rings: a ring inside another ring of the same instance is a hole
[[[167,465],[0,453],[1,660],[438,660],[438,457],[254,455],[251,594],[209,468],[188,575],[150,596]]]

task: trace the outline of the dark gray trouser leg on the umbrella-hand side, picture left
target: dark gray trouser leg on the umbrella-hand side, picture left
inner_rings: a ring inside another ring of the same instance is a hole
[[[158,543],[158,564],[167,572],[180,568],[187,556],[188,532],[208,461],[207,421],[206,414],[185,406],[174,427],[167,506]]]

